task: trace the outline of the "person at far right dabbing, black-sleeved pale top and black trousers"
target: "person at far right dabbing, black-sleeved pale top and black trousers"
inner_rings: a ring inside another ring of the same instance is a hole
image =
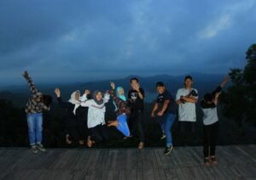
[[[204,163],[206,166],[217,164],[215,157],[216,140],[218,137],[218,113],[217,104],[218,96],[224,85],[230,81],[230,77],[226,76],[224,81],[212,92],[204,95],[201,100],[201,109],[203,111],[203,136],[204,136]]]

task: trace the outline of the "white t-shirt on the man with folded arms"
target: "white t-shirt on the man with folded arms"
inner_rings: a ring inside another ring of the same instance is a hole
[[[185,88],[178,89],[176,101],[179,100],[181,96],[189,95],[192,90],[195,90],[195,92],[198,93],[195,88],[191,88],[190,90]],[[198,98],[198,96],[195,98]],[[178,121],[196,121],[195,103],[186,102],[184,104],[178,104]]]

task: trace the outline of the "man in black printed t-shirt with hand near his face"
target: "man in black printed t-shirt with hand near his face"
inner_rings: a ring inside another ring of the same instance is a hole
[[[131,90],[128,93],[128,100],[130,102],[131,115],[129,118],[130,128],[137,131],[139,137],[138,149],[143,149],[144,147],[144,131],[143,131],[143,104],[145,94],[143,88],[137,78],[131,78]]]

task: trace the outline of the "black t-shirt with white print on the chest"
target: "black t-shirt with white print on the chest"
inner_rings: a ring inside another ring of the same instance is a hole
[[[140,88],[140,92],[143,94],[143,97],[145,97],[143,88]],[[144,100],[139,97],[138,92],[136,90],[130,90],[128,93],[128,98],[130,100],[131,112],[143,112]]]

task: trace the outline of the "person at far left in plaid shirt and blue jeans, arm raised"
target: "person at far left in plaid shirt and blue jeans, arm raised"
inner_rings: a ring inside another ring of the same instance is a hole
[[[32,97],[29,98],[26,104],[26,121],[28,127],[29,143],[32,148],[32,153],[38,153],[38,149],[45,151],[42,144],[42,132],[43,132],[43,110],[49,110],[49,104],[52,99],[49,95],[40,93],[35,87],[32,78],[28,75],[27,71],[24,72],[23,76],[26,78]]]

